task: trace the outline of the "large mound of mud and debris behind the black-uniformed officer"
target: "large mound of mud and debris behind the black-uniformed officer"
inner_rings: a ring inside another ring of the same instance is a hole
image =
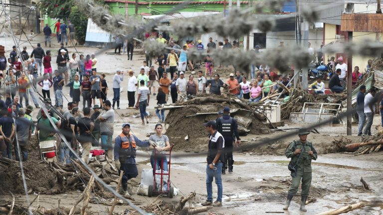
[[[261,112],[260,105],[248,106],[230,94],[202,95],[175,106],[164,106],[164,109],[170,110],[166,120],[166,134],[175,144],[175,149],[193,151],[199,150],[201,145],[204,147],[206,141],[199,138],[208,135],[202,124],[215,120],[217,112],[226,106],[230,108],[230,116],[237,120],[241,136],[270,132],[268,124],[262,122],[266,121],[266,116]]]

